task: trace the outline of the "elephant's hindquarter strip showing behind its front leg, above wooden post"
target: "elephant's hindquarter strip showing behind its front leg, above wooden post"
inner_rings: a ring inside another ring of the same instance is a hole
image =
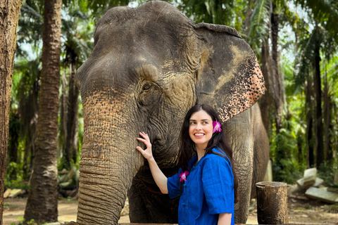
[[[269,139],[266,133],[261,110],[256,103],[251,107],[252,129],[253,129],[253,178],[251,187],[251,198],[256,196],[256,183],[263,181],[266,167],[269,161]]]

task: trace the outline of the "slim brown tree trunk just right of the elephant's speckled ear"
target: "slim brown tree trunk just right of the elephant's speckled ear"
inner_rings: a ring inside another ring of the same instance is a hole
[[[276,6],[273,4],[273,13],[271,13],[271,42],[273,44],[271,51],[271,65],[273,69],[273,98],[275,105],[275,122],[276,122],[276,133],[280,132],[282,128],[282,113],[283,113],[283,95],[282,91],[282,79],[280,78],[280,70],[278,68],[278,25],[279,18],[278,14],[275,13]]]

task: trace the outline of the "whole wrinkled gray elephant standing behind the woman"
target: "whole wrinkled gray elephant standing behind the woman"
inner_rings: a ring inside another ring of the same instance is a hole
[[[263,80],[249,45],[230,27],[195,25],[160,1],[111,9],[94,44],[75,78],[84,111],[77,223],[117,224],[128,190],[131,222],[177,222],[178,198],[158,193],[137,137],[149,134],[158,166],[172,176],[182,121],[195,103],[213,105],[226,121],[239,176],[235,221],[245,223],[269,150],[254,104]]]

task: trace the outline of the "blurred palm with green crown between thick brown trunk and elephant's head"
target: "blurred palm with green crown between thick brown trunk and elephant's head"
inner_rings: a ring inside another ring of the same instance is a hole
[[[94,23],[78,8],[70,8],[68,12],[69,18],[63,20],[62,37],[65,39],[63,70],[68,72],[69,76],[63,76],[62,79],[60,143],[65,166],[69,168],[71,161],[75,162],[77,158],[77,110],[80,91],[75,86],[74,75],[92,50]],[[84,27],[84,29],[78,30],[77,27]]]

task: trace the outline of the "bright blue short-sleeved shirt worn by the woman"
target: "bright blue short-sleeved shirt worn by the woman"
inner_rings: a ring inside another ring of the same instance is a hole
[[[216,148],[213,151],[220,153]],[[189,160],[191,169],[184,184],[180,182],[182,169],[168,178],[169,197],[180,196],[178,224],[213,225],[218,223],[218,214],[226,212],[232,214],[234,225],[234,175],[230,160],[215,154],[204,155],[195,165],[196,160],[197,156]]]

